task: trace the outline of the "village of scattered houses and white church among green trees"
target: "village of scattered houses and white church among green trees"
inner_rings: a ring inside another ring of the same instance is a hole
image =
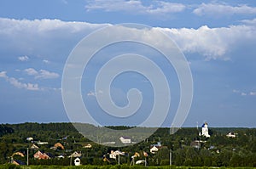
[[[207,122],[201,127],[181,128],[174,135],[170,135],[167,128],[160,128],[137,144],[133,143],[132,138],[120,136],[119,141],[124,147],[106,145],[113,143],[93,143],[75,130],[69,132],[73,135],[42,141],[40,135],[38,139],[37,134],[30,131],[28,133],[32,133],[32,136],[24,138],[24,144],[14,138],[13,143],[6,144],[12,147],[6,148],[12,149],[12,152],[5,152],[7,156],[1,160],[2,163],[15,165],[229,166],[236,153],[250,152],[247,155],[255,155],[255,145],[248,147],[245,143],[241,144],[241,138],[244,141],[251,139],[250,143],[255,142],[253,134],[246,133],[246,129],[237,132],[228,132],[234,129],[215,129],[222,130],[222,133],[212,133],[213,130],[208,128]],[[3,135],[1,144],[14,134]],[[254,163],[251,162],[251,165]]]

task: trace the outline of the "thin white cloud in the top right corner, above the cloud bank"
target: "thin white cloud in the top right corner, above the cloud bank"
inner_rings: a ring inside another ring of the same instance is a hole
[[[256,8],[242,4],[239,6],[230,6],[227,4],[218,3],[201,3],[198,8],[193,11],[197,15],[210,16],[226,16],[232,14],[256,14]]]

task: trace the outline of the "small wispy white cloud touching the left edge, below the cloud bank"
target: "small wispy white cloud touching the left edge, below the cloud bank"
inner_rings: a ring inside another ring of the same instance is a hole
[[[38,84],[20,82],[15,77],[7,76],[6,71],[0,72],[0,77],[5,78],[7,82],[9,82],[11,85],[17,88],[25,88],[27,90],[40,90],[40,88],[38,87]]]

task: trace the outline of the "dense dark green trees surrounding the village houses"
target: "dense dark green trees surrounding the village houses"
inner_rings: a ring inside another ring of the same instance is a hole
[[[111,127],[116,130],[128,127]],[[256,167],[256,129],[255,128],[211,128],[210,138],[199,137],[201,128],[185,127],[170,134],[170,128],[159,128],[143,142],[122,148],[113,148],[91,142],[84,138],[72,123],[23,123],[0,125],[0,164],[10,161],[21,161],[26,164],[28,152],[29,165],[74,165],[68,158],[74,151],[81,154],[83,165],[113,166],[118,160],[110,159],[111,150],[120,150],[125,155],[119,156],[119,163],[130,166],[131,156],[138,153],[135,161],[146,160],[147,166],[167,166],[170,164],[170,153],[173,166],[254,166]],[[235,138],[226,135],[236,133]],[[33,138],[32,140],[27,138]],[[196,142],[197,140],[197,142]],[[47,144],[38,144],[38,143]],[[153,144],[161,146],[155,154],[150,153]],[[64,149],[57,147],[63,145]],[[32,145],[38,149],[32,149]],[[84,145],[90,144],[90,148]],[[27,151],[28,150],[28,151]],[[48,160],[38,160],[34,154],[40,150],[50,156]],[[25,156],[14,155],[20,152]],[[143,153],[148,155],[144,156]],[[62,155],[64,158],[59,158]],[[105,157],[108,159],[104,160]]]

